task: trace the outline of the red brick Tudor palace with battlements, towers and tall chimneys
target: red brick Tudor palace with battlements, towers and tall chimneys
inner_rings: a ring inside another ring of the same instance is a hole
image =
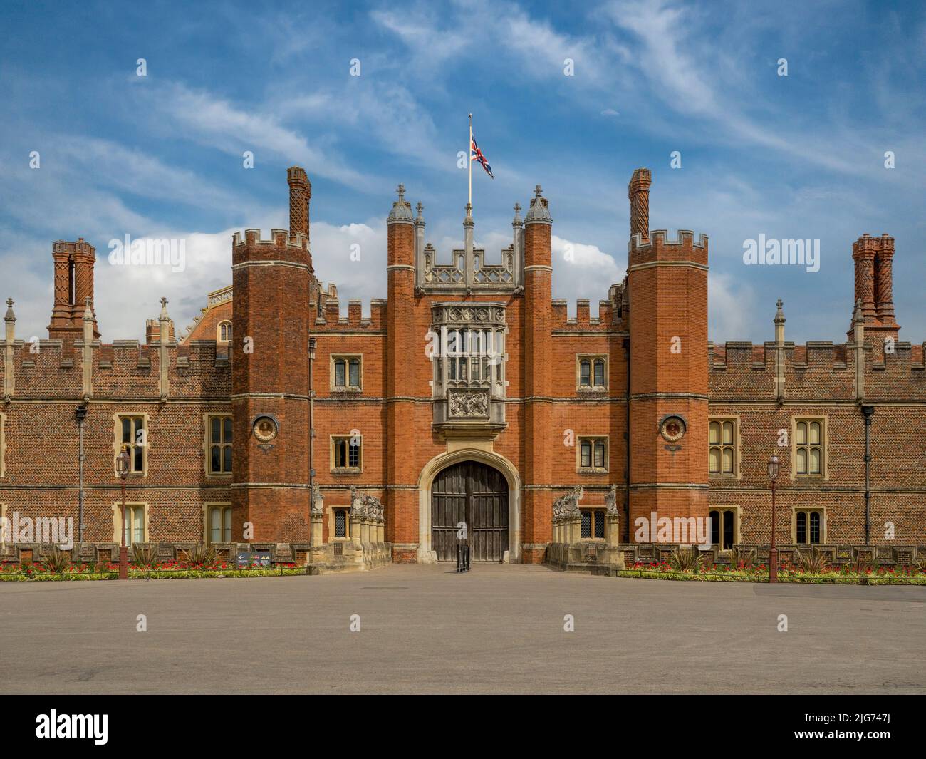
[[[574,319],[551,296],[539,186],[500,258],[467,209],[439,262],[400,185],[386,297],[343,317],[313,265],[306,172],[288,178],[290,229],[236,234],[232,287],[179,340],[164,304],[144,345],[101,342],[94,247],[54,244],[49,339],[23,342],[6,312],[3,514],[76,519],[82,499],[84,539],[118,541],[127,445],[132,542],[308,543],[315,503],[329,543],[351,535],[353,486],[382,501],[394,561],[450,559],[464,524],[475,559],[539,562],[554,501],[582,487],[582,539],[606,516],[632,542],[654,512],[710,514],[722,549],[768,543],[776,453],[780,544],[926,543],[923,344],[899,341],[891,237],[853,247],[845,342],[787,342],[780,301],[774,339],[715,346],[707,237],[649,230],[649,171],[629,187],[626,278]]]

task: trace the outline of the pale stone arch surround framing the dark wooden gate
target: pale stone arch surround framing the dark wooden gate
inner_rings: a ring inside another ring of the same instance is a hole
[[[457,449],[435,456],[425,464],[419,476],[419,563],[437,561],[432,546],[432,486],[445,469],[461,462],[478,462],[497,470],[507,485],[507,547],[508,561],[520,561],[520,477],[514,464],[504,456],[482,449]]]

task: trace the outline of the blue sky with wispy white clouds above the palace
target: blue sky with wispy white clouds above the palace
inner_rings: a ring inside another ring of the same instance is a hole
[[[6,2],[0,20],[0,296],[19,337],[46,336],[51,244],[78,236],[97,249],[106,341],[143,336],[162,295],[182,329],[231,282],[233,231],[287,226],[293,164],[312,181],[317,274],[369,310],[397,183],[439,255],[461,241],[472,111],[495,174],[473,172],[477,243],[497,257],[541,183],[570,310],[622,278],[645,166],[650,227],[710,238],[711,339],[772,339],[782,297],[788,339],[845,340],[866,232],[895,236],[901,339],[926,339],[920,3]],[[185,270],[110,266],[125,234],[185,240]],[[820,239],[820,272],[745,266],[759,234]]]

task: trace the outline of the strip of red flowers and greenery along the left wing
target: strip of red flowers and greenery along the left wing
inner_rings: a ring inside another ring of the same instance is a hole
[[[129,564],[130,580],[190,579],[194,577],[279,577],[306,575],[307,567],[294,563],[280,563],[274,566],[248,567],[237,564],[215,562],[194,566],[183,562],[158,562],[150,567]],[[62,580],[116,580],[119,579],[119,563],[69,564],[60,572],[52,571],[41,563],[0,564],[0,582],[62,581]]]

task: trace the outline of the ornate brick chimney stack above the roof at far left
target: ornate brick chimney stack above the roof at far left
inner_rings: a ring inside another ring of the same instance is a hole
[[[52,340],[76,339],[83,335],[83,310],[90,298],[94,338],[99,339],[94,310],[94,264],[96,250],[83,237],[73,243],[57,240],[52,245],[55,259],[55,304],[48,324]]]

